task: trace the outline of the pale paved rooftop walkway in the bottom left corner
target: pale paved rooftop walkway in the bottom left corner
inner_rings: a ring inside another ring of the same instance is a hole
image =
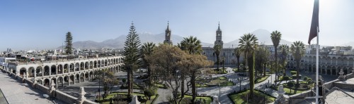
[[[32,89],[27,84],[21,84],[3,72],[0,72],[0,89],[10,104],[60,103],[42,98],[42,92]]]

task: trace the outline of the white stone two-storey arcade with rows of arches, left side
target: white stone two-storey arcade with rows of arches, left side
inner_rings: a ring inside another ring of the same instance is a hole
[[[58,86],[64,86],[64,84],[89,81],[93,79],[96,75],[94,73],[98,70],[109,69],[113,72],[120,72],[123,65],[122,58],[123,56],[108,56],[48,62],[9,63],[8,71],[45,86],[50,86],[51,81],[54,81]]]

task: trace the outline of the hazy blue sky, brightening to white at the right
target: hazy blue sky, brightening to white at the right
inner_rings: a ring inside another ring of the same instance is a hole
[[[307,43],[313,0],[2,0],[0,51],[61,46],[70,31],[74,41],[103,41],[137,32],[159,34],[170,21],[172,34],[214,43],[220,22],[224,42],[242,34],[278,30],[282,39]],[[353,0],[319,0],[320,44],[353,41]]]

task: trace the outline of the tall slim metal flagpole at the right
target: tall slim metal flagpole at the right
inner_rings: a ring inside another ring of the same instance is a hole
[[[316,104],[319,104],[319,27],[317,31],[317,44],[316,44]]]

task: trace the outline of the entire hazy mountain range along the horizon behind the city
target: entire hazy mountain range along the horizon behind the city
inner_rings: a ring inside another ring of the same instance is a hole
[[[256,35],[256,37],[258,38],[259,44],[273,45],[273,42],[270,39],[270,32],[269,31],[260,29],[260,30],[256,30],[251,33]],[[74,46],[74,48],[81,48],[81,49],[123,48],[126,37],[127,37],[127,35],[120,35],[120,37],[117,37],[115,39],[108,39],[108,40],[105,40],[102,42],[76,41],[73,43],[73,46]],[[151,34],[148,32],[143,32],[143,33],[139,33],[139,39],[142,44],[144,44],[146,42],[154,42],[155,44],[159,44],[159,43],[164,42],[165,34],[164,33]],[[183,40],[183,37],[178,36],[176,34],[172,34],[171,40],[172,40],[173,44],[177,44]],[[290,45],[290,44],[292,44],[292,42],[282,39],[280,41],[280,44]],[[354,44],[354,42],[353,42],[353,44]],[[239,39],[236,39],[234,41],[224,43],[224,48],[234,48],[238,45],[239,45]],[[212,47],[212,46],[214,46],[214,44],[202,42],[202,46],[203,47]],[[62,48],[62,46],[59,46],[58,48]]]

